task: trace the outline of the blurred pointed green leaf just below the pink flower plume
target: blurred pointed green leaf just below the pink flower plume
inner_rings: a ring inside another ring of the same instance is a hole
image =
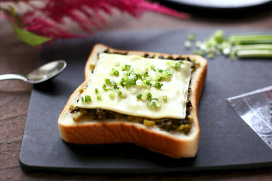
[[[15,25],[12,25],[12,28],[14,29],[15,33],[17,34],[17,37],[19,38],[20,41],[30,45],[30,46],[39,46],[47,41],[50,41],[52,38],[44,37],[44,36],[39,36],[34,33],[24,31],[20,28],[18,28]]]

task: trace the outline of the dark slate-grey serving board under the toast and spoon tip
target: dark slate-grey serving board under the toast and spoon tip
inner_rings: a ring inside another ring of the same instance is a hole
[[[195,32],[202,40],[213,31]],[[69,96],[84,81],[85,62],[96,43],[115,49],[189,54],[192,49],[185,49],[183,44],[191,32],[104,32],[87,39],[58,41],[52,47],[43,48],[40,65],[54,59],[65,59],[68,65],[51,82],[34,86],[19,156],[22,168],[92,173],[162,173],[271,166],[272,150],[226,100],[271,85],[271,60],[230,61],[223,56],[208,60],[198,112],[200,145],[195,158],[175,160],[132,144],[73,145],[60,138],[58,116]]]

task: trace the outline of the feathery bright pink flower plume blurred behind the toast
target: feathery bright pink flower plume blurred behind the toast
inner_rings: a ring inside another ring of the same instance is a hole
[[[42,5],[36,5],[37,1]],[[141,16],[145,11],[155,11],[179,18],[189,17],[188,14],[147,0],[0,0],[0,2],[22,2],[31,7],[22,15],[16,15],[17,20],[7,13],[9,11],[0,9],[0,18],[12,21],[26,31],[51,37],[52,40],[84,37],[62,28],[65,18],[77,23],[85,32],[93,33],[93,30],[101,29],[102,24],[106,24],[104,16],[112,15],[113,9],[135,17]]]

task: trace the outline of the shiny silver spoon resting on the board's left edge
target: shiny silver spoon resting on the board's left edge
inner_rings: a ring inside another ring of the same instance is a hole
[[[65,69],[66,65],[67,63],[64,60],[56,60],[53,62],[49,62],[43,66],[40,66],[34,69],[32,72],[25,75],[19,74],[0,75],[0,81],[8,79],[19,79],[29,83],[40,83],[47,81],[58,75],[61,71]]]

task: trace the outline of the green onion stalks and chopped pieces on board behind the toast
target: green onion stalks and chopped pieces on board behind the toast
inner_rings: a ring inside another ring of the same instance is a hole
[[[232,34],[225,38],[223,31],[217,30],[207,40],[197,41],[195,45],[197,49],[193,51],[194,54],[207,56],[210,59],[220,54],[229,56],[231,60],[236,56],[272,58],[272,33]]]

